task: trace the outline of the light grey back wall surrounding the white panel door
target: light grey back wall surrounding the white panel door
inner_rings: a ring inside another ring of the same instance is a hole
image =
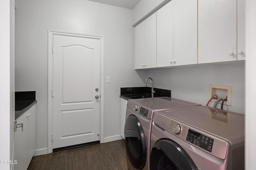
[[[22,0],[16,9],[16,91],[36,91],[36,149],[48,138],[48,29],[104,36],[104,137],[120,136],[120,87],[143,86],[133,69],[132,10],[87,0]]]

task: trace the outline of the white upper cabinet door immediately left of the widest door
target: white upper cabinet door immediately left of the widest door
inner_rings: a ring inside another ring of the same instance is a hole
[[[197,64],[197,0],[173,0],[173,10],[174,66]]]

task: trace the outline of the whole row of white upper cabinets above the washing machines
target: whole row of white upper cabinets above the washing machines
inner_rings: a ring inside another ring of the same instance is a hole
[[[135,69],[245,59],[244,0],[172,0],[135,27]]]

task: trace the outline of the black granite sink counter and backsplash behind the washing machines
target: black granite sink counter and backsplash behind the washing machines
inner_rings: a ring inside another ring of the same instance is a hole
[[[165,90],[160,88],[154,88],[154,97],[171,97],[171,90]],[[151,88],[150,87],[128,87],[120,88],[120,97],[129,99],[139,99],[139,98],[151,98]]]

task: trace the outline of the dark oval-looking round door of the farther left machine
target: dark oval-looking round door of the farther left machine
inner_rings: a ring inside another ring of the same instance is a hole
[[[146,138],[138,118],[127,117],[124,126],[126,154],[130,163],[141,170],[146,164]]]

